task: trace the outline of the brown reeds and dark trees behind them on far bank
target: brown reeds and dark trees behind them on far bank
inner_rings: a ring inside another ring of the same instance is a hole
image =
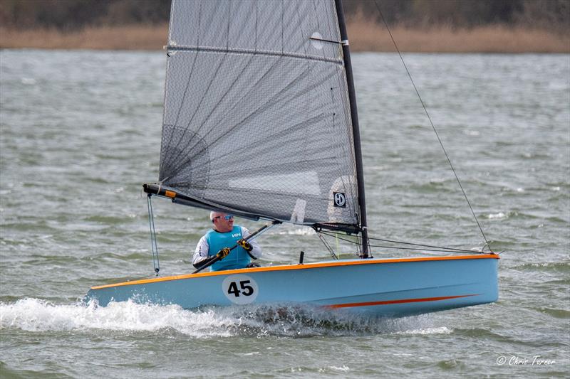
[[[355,51],[570,53],[569,0],[344,0]],[[381,13],[380,13],[381,12]],[[156,50],[170,0],[0,0],[0,48]],[[366,16],[363,16],[366,15]]]

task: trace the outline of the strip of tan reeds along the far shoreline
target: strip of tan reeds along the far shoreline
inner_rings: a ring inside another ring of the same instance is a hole
[[[353,52],[395,53],[385,28],[362,19],[348,21]],[[541,29],[441,26],[390,29],[403,53],[570,53],[570,36]],[[168,25],[99,26],[74,33],[53,29],[16,31],[0,27],[0,49],[162,50]]]

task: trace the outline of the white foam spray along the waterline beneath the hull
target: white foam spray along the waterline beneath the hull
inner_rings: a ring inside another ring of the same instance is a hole
[[[53,304],[26,298],[0,302],[0,330],[78,331],[98,333],[182,333],[192,338],[232,336],[360,336],[382,333],[438,334],[427,316],[375,319],[314,306],[249,305],[185,310],[177,305],[137,304],[133,301]]]

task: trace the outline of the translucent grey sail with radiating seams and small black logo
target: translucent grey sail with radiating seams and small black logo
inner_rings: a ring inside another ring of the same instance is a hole
[[[172,1],[161,185],[263,218],[358,225],[341,47],[333,0]]]

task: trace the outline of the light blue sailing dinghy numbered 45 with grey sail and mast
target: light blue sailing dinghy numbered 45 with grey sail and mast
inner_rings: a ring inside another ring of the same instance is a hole
[[[361,243],[354,259],[133,280],[92,287],[86,299],[184,309],[309,304],[380,316],[497,300],[492,252],[371,257],[340,0],[172,0],[165,48],[159,181],[143,186],[149,204],[167,198]]]

